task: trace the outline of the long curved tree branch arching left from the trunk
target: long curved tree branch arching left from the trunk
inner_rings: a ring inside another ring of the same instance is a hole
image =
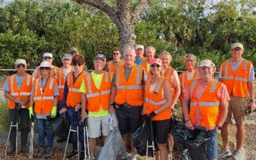
[[[105,12],[112,20],[115,22],[116,26],[120,24],[120,20],[118,19],[118,16],[113,8],[109,6],[108,4],[99,1],[99,0],[75,0],[79,4],[89,4],[91,6],[94,6],[95,8],[98,8],[99,10],[102,10]]]

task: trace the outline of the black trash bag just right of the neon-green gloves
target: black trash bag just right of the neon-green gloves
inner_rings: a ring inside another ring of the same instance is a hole
[[[61,138],[61,140],[67,140],[69,123],[65,114],[60,114],[56,118],[51,120],[54,135]]]

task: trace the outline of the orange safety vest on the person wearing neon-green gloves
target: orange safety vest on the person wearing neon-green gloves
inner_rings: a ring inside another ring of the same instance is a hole
[[[49,77],[47,84],[42,93],[41,78],[37,78],[33,83],[33,99],[35,101],[36,114],[51,114],[54,104],[54,86],[57,80],[54,77]]]

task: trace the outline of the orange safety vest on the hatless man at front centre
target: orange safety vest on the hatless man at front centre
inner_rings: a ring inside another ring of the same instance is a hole
[[[115,85],[117,88],[115,103],[124,104],[127,102],[131,106],[142,106],[143,87],[141,83],[143,68],[134,64],[128,81],[124,76],[124,65],[120,65],[115,73]]]

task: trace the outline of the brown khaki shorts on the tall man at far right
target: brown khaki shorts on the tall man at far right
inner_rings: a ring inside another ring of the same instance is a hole
[[[232,118],[232,113],[237,125],[245,124],[245,111],[246,111],[246,98],[244,97],[234,97],[230,95],[230,101],[228,101],[228,115],[225,123],[230,123]]]

